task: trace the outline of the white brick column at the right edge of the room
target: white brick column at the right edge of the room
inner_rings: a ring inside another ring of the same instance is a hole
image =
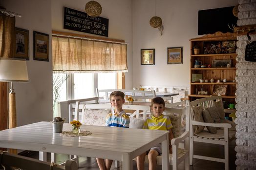
[[[255,25],[256,0],[238,2],[237,25]],[[236,42],[236,170],[256,170],[256,62],[244,60],[246,45],[256,41],[256,34],[250,36],[239,35]]]

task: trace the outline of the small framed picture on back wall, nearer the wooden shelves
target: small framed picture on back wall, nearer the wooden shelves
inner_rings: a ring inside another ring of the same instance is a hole
[[[169,47],[167,48],[167,64],[182,64],[183,47]]]

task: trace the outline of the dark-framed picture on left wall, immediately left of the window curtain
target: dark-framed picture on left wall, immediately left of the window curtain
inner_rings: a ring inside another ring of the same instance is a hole
[[[49,34],[34,31],[34,60],[49,61]]]

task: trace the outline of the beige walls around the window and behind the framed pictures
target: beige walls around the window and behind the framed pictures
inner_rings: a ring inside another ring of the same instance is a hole
[[[157,0],[157,15],[164,32],[149,26],[154,16],[154,0],[97,0],[102,17],[109,19],[109,38],[123,39],[128,45],[126,88],[138,85],[189,86],[189,39],[197,36],[197,11],[232,6],[236,0]],[[52,118],[52,58],[33,60],[33,31],[51,34],[63,29],[63,7],[84,11],[85,0],[4,0],[0,5],[20,13],[16,26],[29,30],[29,83],[14,83],[18,126]],[[216,22],[217,19],[213,22]],[[51,42],[51,35],[50,35]],[[183,64],[167,65],[166,48],[183,47]],[[140,49],[155,48],[155,66],[140,65]]]

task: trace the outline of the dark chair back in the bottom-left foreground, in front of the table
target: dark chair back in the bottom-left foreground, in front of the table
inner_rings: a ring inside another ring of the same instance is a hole
[[[1,165],[5,167],[4,170],[13,170],[11,167],[19,168],[19,170],[77,170],[76,163],[70,160],[66,161],[65,166],[60,166],[51,164],[49,162],[0,151],[0,169]]]

